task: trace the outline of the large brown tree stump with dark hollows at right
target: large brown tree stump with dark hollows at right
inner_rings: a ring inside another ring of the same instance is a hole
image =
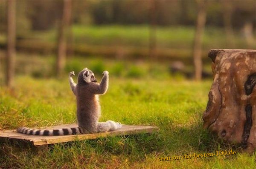
[[[214,80],[204,128],[226,143],[256,149],[256,50],[212,49]]]

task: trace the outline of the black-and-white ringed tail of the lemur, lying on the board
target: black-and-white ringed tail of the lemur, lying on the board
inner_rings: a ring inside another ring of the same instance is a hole
[[[29,129],[27,127],[20,127],[17,132],[26,135],[79,135],[81,129],[79,127],[65,128],[65,129]]]

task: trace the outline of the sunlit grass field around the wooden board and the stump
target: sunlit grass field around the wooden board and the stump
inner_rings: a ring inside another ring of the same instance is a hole
[[[18,75],[15,82],[14,92],[1,87],[0,129],[76,122],[76,101],[66,78]],[[108,92],[100,97],[100,121],[159,126],[159,132],[60,143],[39,154],[26,146],[0,143],[0,168],[255,168],[256,153],[250,156],[239,147],[218,144],[202,129],[210,85],[211,80],[118,77],[110,71]],[[228,149],[238,154],[158,161]]]

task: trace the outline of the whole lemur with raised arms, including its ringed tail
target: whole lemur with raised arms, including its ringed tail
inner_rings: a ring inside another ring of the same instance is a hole
[[[121,123],[116,123],[112,120],[98,122],[101,115],[99,95],[104,95],[108,90],[108,71],[104,71],[102,74],[101,82],[96,83],[97,80],[94,73],[84,68],[78,74],[77,84],[72,78],[72,76],[75,76],[75,72],[70,72],[69,74],[70,87],[76,96],[78,127],[52,130],[33,130],[20,127],[17,129],[17,132],[29,135],[76,135],[120,129],[122,127]]]

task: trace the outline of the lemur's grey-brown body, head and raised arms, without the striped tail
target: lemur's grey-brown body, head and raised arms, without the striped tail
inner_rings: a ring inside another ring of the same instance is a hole
[[[111,120],[98,122],[101,115],[98,95],[104,95],[108,90],[108,71],[103,72],[100,83],[96,83],[93,72],[87,68],[79,72],[77,85],[72,80],[70,77],[70,87],[76,95],[78,125],[82,133],[108,132],[121,128],[120,123]]]

